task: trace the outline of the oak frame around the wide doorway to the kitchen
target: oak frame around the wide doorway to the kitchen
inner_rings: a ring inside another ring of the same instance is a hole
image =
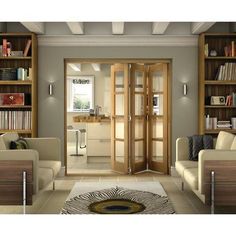
[[[65,164],[65,176],[80,176],[80,175],[99,175],[102,174],[68,174],[67,173],[67,83],[66,83],[66,75],[67,75],[67,64],[68,63],[100,63],[100,64],[114,64],[114,63],[144,63],[144,64],[155,64],[155,63],[167,63],[167,110],[168,110],[168,137],[167,137],[167,145],[168,145],[168,153],[167,153],[167,174],[170,173],[171,168],[171,159],[172,159],[172,59],[145,59],[145,58],[119,58],[119,59],[109,59],[109,58],[64,58],[64,164]],[[107,174],[105,174],[107,175]]]

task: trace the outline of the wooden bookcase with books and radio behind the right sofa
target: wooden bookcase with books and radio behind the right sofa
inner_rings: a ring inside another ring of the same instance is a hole
[[[236,34],[203,33],[199,36],[199,133],[236,133],[235,125]]]

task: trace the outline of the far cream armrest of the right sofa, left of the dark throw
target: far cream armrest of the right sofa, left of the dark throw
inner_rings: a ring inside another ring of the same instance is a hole
[[[176,161],[188,160],[188,138],[182,137],[176,140]]]

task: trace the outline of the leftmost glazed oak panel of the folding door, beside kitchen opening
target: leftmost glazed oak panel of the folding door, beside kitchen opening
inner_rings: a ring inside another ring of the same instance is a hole
[[[129,171],[129,68],[128,64],[111,66],[111,161],[112,170]]]

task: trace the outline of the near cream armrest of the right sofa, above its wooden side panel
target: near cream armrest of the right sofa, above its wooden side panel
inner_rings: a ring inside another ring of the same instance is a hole
[[[201,194],[204,193],[204,161],[206,160],[219,160],[219,161],[236,161],[236,150],[216,150],[208,149],[201,150],[198,154],[198,189]]]

